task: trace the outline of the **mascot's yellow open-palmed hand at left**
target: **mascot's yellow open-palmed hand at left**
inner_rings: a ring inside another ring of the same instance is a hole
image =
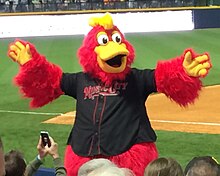
[[[9,46],[8,56],[20,65],[24,65],[32,57],[29,44],[15,41]]]

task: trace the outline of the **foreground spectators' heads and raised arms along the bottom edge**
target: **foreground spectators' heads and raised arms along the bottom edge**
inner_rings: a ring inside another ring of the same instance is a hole
[[[43,164],[43,159],[49,154],[54,161],[56,176],[65,176],[66,169],[59,157],[58,144],[50,137],[51,146],[44,145],[41,138],[37,144],[38,155],[26,164],[22,152],[11,150],[4,154],[0,137],[0,176],[31,176]],[[127,168],[120,168],[112,161],[104,158],[92,159],[83,164],[78,176],[135,176]],[[183,169],[174,158],[159,157],[151,161],[145,168],[144,176],[220,176],[220,165],[211,156],[193,157]]]

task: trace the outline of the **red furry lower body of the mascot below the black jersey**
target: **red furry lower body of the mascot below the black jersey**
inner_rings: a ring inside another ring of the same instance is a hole
[[[93,158],[98,157],[81,157],[76,155],[71,146],[67,146],[65,153],[64,165],[67,169],[67,176],[77,176],[81,165]],[[119,167],[131,169],[135,176],[143,176],[145,167],[154,159],[158,158],[158,151],[154,143],[135,144],[128,151],[111,157],[109,159]]]

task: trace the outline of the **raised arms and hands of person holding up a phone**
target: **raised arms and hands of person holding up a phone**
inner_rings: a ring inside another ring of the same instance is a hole
[[[46,139],[46,141],[44,139]],[[51,136],[49,136],[48,132],[41,133],[37,145],[37,150],[37,157],[27,165],[27,176],[32,176],[39,169],[39,167],[43,164],[44,158],[48,154],[53,158],[55,176],[66,176],[66,169],[63,166],[63,162],[58,153],[58,144],[53,140]]]

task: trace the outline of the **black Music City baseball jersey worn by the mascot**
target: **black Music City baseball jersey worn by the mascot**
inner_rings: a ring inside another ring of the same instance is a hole
[[[76,120],[68,144],[80,156],[121,154],[141,142],[155,142],[146,112],[156,92],[154,70],[132,69],[124,81],[105,87],[86,73],[63,73],[61,89],[76,99]]]

